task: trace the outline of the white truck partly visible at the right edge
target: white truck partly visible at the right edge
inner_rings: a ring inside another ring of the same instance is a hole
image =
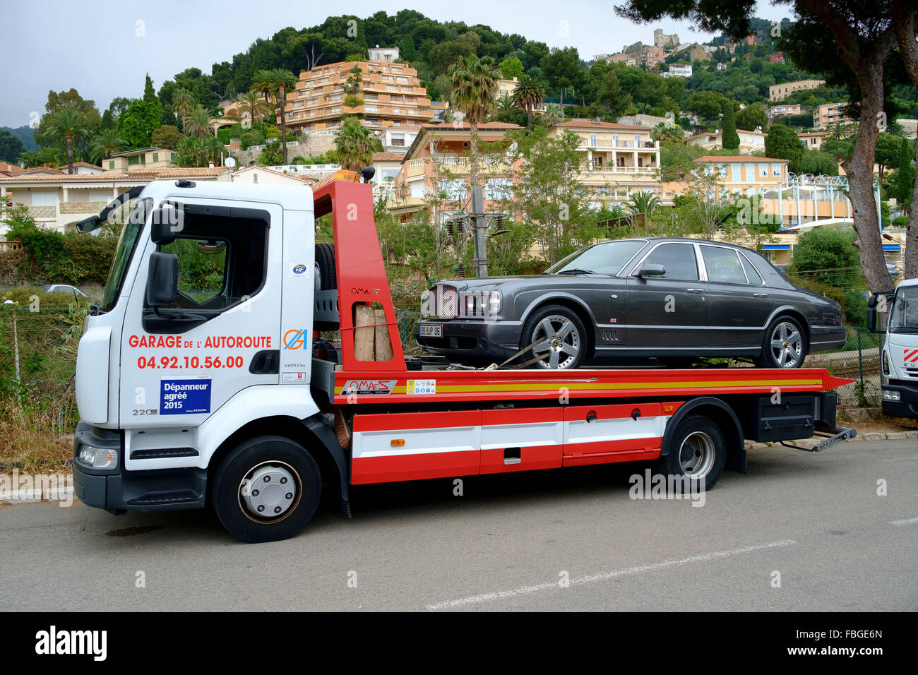
[[[883,412],[918,420],[918,279],[902,281],[894,293],[872,296],[868,308],[871,331],[876,331],[877,314],[889,312],[880,354]]]

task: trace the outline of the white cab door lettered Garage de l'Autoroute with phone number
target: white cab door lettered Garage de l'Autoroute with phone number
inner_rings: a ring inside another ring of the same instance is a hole
[[[278,383],[282,209],[184,197],[176,197],[184,218],[175,240],[161,246],[177,258],[174,303],[146,301],[149,240],[130,293],[120,336],[123,429],[193,428],[242,388]]]

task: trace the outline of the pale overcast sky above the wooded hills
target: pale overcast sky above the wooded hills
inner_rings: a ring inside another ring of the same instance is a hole
[[[350,0],[338,6],[314,0],[0,0],[6,63],[0,126],[37,123],[51,89],[74,87],[102,111],[116,96],[142,96],[146,73],[159,91],[186,68],[209,73],[257,38],[287,26],[316,26],[330,14],[369,17],[385,10],[391,16],[417,9],[439,21],[481,23],[549,47],[574,46],[585,60],[638,40],[653,43],[654,28],[677,33],[683,43],[712,38],[668,18],[633,24],[615,14],[616,2],[621,0]],[[789,16],[789,7],[760,2],[756,16],[778,20]]]

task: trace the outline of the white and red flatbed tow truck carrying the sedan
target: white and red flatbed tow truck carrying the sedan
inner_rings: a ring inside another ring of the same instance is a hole
[[[744,439],[854,434],[821,368],[416,369],[366,179],[156,181],[78,224],[128,212],[77,356],[81,501],[211,507],[253,543],[297,534],[323,490],[350,515],[357,485],[647,461],[711,489]]]

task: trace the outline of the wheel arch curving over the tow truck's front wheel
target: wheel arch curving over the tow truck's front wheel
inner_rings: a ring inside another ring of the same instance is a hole
[[[212,478],[217,467],[237,445],[255,438],[256,436],[283,436],[306,448],[306,451],[316,460],[322,482],[336,489],[341,499],[341,504],[346,506],[349,495],[350,471],[348,470],[347,456],[341,444],[328,425],[322,421],[319,414],[298,420],[289,415],[276,415],[262,417],[244,424],[235,432],[229,434],[223,443],[219,444],[207,464],[207,483],[212,485]],[[208,494],[208,500],[210,495]]]

